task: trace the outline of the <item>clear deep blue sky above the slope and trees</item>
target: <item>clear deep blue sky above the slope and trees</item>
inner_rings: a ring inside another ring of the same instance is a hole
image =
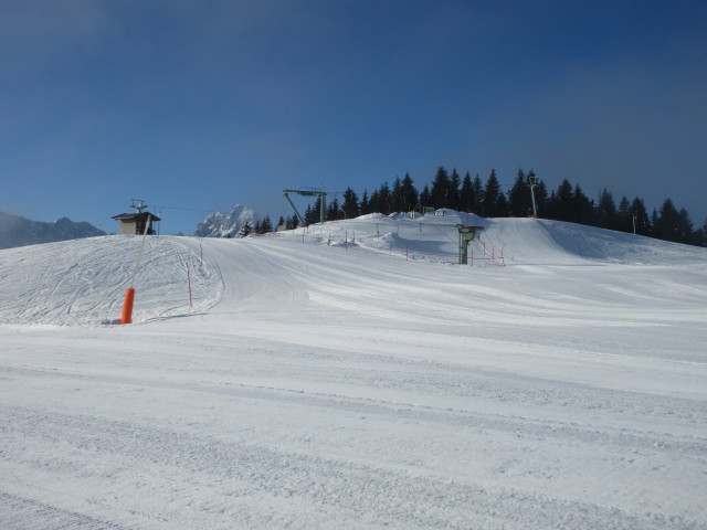
[[[439,166],[707,219],[703,1],[0,0],[0,210],[40,221],[191,233]]]

